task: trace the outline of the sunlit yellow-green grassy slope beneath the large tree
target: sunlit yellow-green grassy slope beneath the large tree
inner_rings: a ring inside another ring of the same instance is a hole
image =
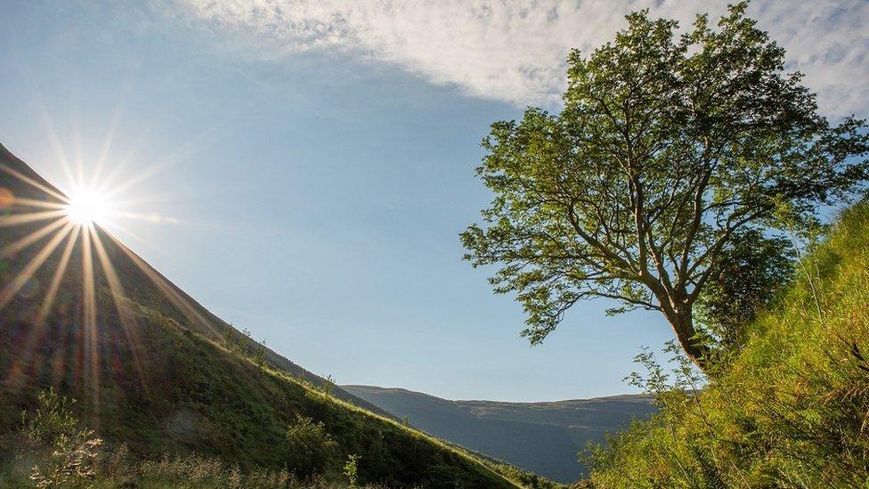
[[[869,484],[869,205],[798,270],[708,387],[597,449],[596,487]]]

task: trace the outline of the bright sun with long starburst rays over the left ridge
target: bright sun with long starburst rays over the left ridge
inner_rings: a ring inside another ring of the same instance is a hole
[[[74,175],[65,159],[58,160],[67,175]],[[139,295],[143,289],[152,290],[146,293],[156,292],[165,297],[191,323],[208,331],[215,331],[215,327],[171,283],[112,234],[129,233],[119,223],[123,220],[150,224],[176,224],[178,220],[166,216],[155,219],[158,215],[153,213],[133,212],[125,207],[126,202],[133,200],[117,203],[118,195],[126,192],[136,177],[114,184],[111,178],[91,185],[82,184],[82,180],[70,182],[66,187],[69,196],[65,195],[0,146],[0,313],[17,301],[15,317],[27,317],[33,326],[18,359],[8,372],[0,374],[0,381],[23,385],[25,378],[21,374],[28,371],[29,363],[37,361],[38,344],[45,339],[46,328],[52,323],[60,324],[57,318],[69,313],[68,306],[55,303],[60,297],[66,297],[68,302],[69,297],[77,297],[77,305],[72,308],[77,311],[76,317],[69,316],[61,322],[82,329],[83,336],[77,340],[80,344],[74,348],[83,355],[85,389],[91,393],[90,403],[99,417],[101,372],[111,364],[107,358],[101,358],[104,346],[99,338],[105,331],[116,329],[121,333],[118,338],[126,339],[134,370],[145,392],[149,390],[137,354],[141,348],[140,331],[128,298],[130,292]],[[51,270],[47,270],[49,267]],[[73,271],[76,278],[67,280],[65,276]],[[100,297],[106,296],[114,304],[113,312],[101,306]],[[55,309],[67,312],[53,315]],[[98,313],[104,316],[98,317]],[[59,353],[51,362],[58,363],[54,365],[57,370],[68,360]]]

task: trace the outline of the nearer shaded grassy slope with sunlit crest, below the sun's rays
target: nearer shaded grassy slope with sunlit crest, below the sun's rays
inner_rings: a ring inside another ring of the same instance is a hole
[[[248,481],[238,485],[258,487],[279,480],[287,486],[303,484],[299,480],[312,486],[343,485],[351,455],[358,457],[360,485],[551,485],[337,399],[134,303],[126,305],[136,323],[131,342],[118,327],[117,314],[110,313],[108,292],[98,296],[106,314],[96,333],[100,360],[95,370],[87,361],[86,332],[69,319],[75,314],[55,314],[37,328],[20,319],[26,317],[26,303],[18,305],[18,313],[4,311],[0,371],[14,372],[0,385],[4,434],[19,430],[21,412],[32,416],[39,393],[54,387],[77,400],[81,424],[104,441],[102,459],[126,447],[134,460],[128,471],[142,486]],[[68,303],[75,304],[75,298],[68,297]],[[28,341],[36,346],[30,356],[24,347]],[[307,445],[288,439],[288,428],[300,418],[321,424],[330,440],[313,469],[302,467],[305,462],[296,456]],[[23,463],[26,453],[12,457],[14,451],[4,452],[0,484],[27,485],[33,460]],[[106,472],[92,483],[118,484],[124,477]]]

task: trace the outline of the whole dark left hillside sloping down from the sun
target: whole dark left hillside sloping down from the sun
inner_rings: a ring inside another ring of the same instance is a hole
[[[65,224],[58,192],[7,151],[0,158],[0,438],[53,387],[77,400],[107,448],[126,444],[142,459],[196,452],[242,470],[344,480],[359,455],[361,483],[514,486],[474,455],[317,387],[322,379],[273,352],[244,354],[240,335],[222,341],[228,324],[108,233]],[[309,443],[290,443],[288,427],[328,450],[303,457]],[[30,468],[7,457],[6,483],[27,480]]]

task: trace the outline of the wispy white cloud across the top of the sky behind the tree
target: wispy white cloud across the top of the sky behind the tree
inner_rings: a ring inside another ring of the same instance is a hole
[[[650,7],[681,20],[719,15],[722,2],[698,0],[178,0],[183,13],[232,32],[280,59],[325,50],[394,63],[466,94],[516,105],[554,103],[564,59],[589,51]],[[869,109],[869,2],[766,0],[751,15],[787,48],[789,69],[806,73],[832,116]]]

